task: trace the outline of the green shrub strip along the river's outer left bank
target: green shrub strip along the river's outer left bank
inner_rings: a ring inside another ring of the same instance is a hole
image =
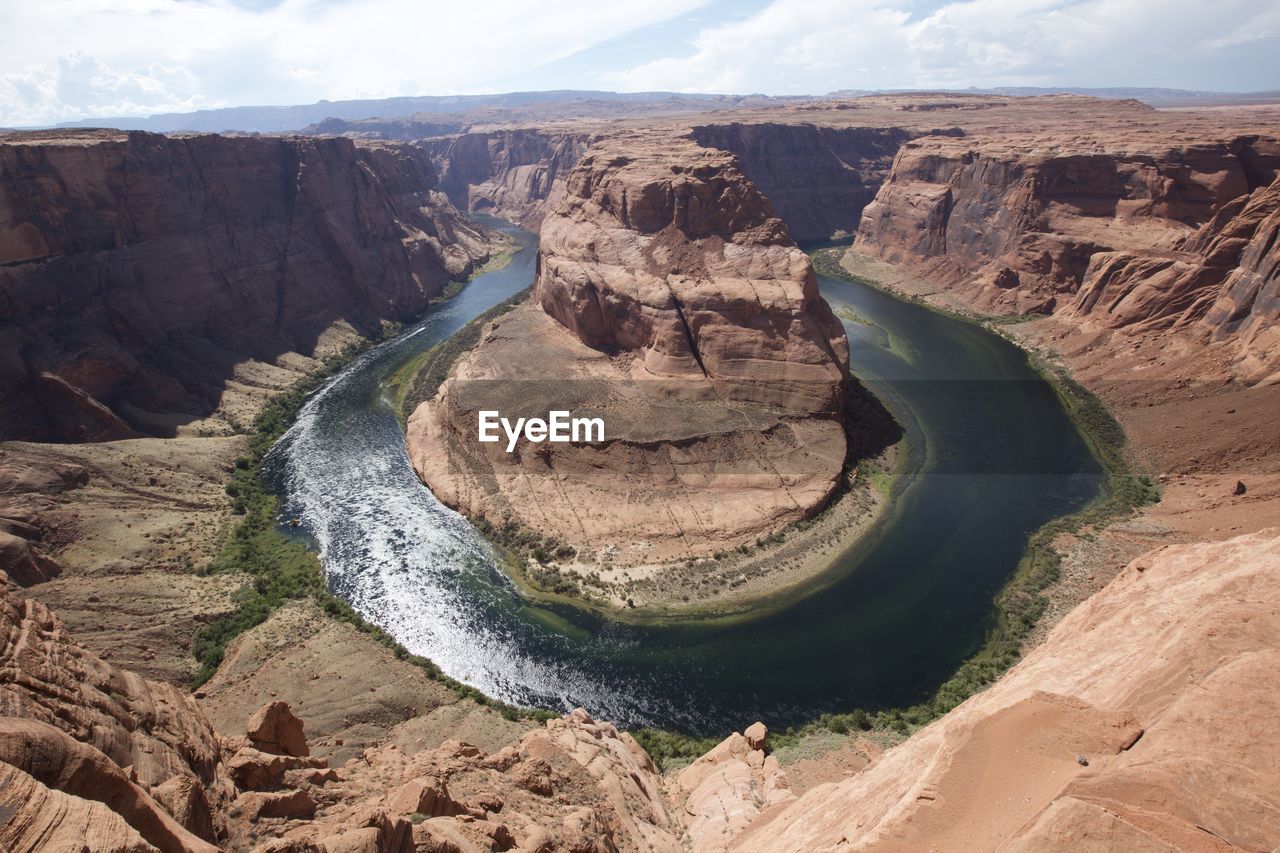
[[[271,400],[255,419],[250,433],[248,455],[236,460],[227,493],[232,511],[238,517],[221,551],[204,570],[205,574],[246,573],[251,580],[233,596],[236,610],[201,628],[192,642],[192,654],[200,665],[191,686],[207,681],[218,671],[227,644],[239,634],[261,625],[289,601],[310,598],[325,613],[371,635],[403,661],[425,670],[433,679],[451,688],[460,697],[492,706],[508,720],[549,720],[559,715],[526,710],[489,698],[480,690],[444,675],[431,661],[396,642],[376,625],[365,621],[351,605],[329,592],[320,558],[302,542],[280,532],[279,500],[262,479],[262,460],[284,434],[306,398],[349,362],[356,355],[398,330],[384,328],[383,334],[360,341],[324,360],[320,370],[298,382],[289,391]]]

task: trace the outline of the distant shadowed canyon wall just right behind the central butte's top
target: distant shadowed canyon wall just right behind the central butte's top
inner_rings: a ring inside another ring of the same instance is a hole
[[[920,134],[900,127],[735,122],[698,126],[691,137],[737,155],[791,236],[805,242],[855,233],[899,149]]]

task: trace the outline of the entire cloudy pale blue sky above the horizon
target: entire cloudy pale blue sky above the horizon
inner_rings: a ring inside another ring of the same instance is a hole
[[[1276,0],[0,0],[0,126],[548,88],[1280,88]]]

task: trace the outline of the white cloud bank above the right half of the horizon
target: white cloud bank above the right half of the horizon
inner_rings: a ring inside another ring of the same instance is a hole
[[[774,0],[692,53],[607,74],[622,90],[820,93],[942,86],[1270,88],[1274,0]],[[1225,47],[1254,44],[1257,56]]]

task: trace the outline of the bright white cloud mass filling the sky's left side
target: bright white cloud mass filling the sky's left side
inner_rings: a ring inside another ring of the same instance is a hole
[[[0,124],[484,91],[705,1],[6,1]]]

